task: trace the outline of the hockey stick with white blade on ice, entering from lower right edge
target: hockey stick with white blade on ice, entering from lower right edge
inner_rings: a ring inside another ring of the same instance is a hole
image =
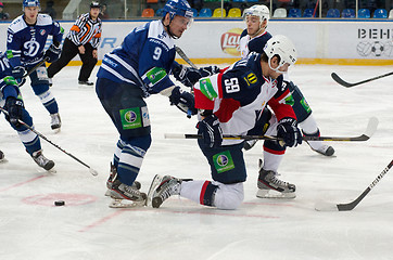
[[[360,202],[366,197],[366,195],[377,185],[377,183],[388,173],[390,168],[393,166],[393,160],[383,169],[381,173],[371,182],[371,184],[353,202],[347,204],[330,204],[326,202],[318,202],[315,205],[315,210],[317,211],[348,211],[353,210]]]

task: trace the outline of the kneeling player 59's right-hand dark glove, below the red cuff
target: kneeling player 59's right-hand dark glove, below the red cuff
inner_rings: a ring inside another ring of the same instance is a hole
[[[277,138],[282,139],[286,146],[295,147],[302,144],[302,133],[297,121],[290,117],[282,118],[277,126]]]

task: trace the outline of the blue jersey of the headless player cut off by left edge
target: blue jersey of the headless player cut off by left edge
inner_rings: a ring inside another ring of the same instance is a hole
[[[3,107],[9,96],[16,98],[20,89],[12,75],[10,61],[5,53],[0,52],[0,106]]]

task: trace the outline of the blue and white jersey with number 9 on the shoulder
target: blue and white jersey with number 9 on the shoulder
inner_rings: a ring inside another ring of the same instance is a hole
[[[98,78],[140,87],[145,96],[174,86],[174,40],[161,21],[147,23],[126,36],[121,47],[105,54]]]

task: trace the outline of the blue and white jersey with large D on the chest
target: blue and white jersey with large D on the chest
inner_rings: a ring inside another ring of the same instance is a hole
[[[64,29],[47,14],[38,14],[35,25],[27,25],[24,15],[15,18],[8,29],[7,49],[14,55],[10,58],[11,65],[33,66],[43,56],[43,49],[48,36],[53,42],[62,42]]]

